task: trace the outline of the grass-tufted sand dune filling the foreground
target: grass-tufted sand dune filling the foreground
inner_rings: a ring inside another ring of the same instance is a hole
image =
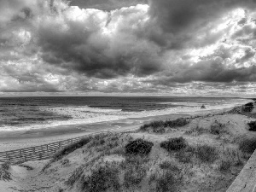
[[[34,168],[27,171],[32,173],[14,177],[14,183],[17,188],[58,192],[225,191],[255,147],[247,121],[239,114],[224,114],[166,126],[159,133],[147,128],[102,134],[66,148],[48,162],[26,163]],[[160,147],[177,137],[184,139],[182,148]],[[137,138],[154,143],[149,154],[125,153],[125,145]]]

